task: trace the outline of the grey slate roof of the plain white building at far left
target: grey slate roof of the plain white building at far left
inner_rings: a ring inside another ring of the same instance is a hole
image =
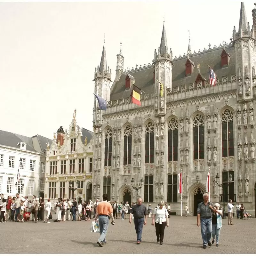
[[[41,135],[36,135],[36,136],[33,136],[33,137],[38,138],[39,143],[40,143],[41,148],[42,148],[41,152],[43,152],[44,148],[46,148],[46,143],[47,142],[49,142],[49,143],[52,142],[52,140],[50,140],[48,138],[45,138]],[[44,141],[47,141],[47,142],[45,142],[45,144],[44,144]],[[19,148],[18,143],[20,143],[20,142],[25,142],[27,144],[26,149],[28,151],[39,152],[34,148],[33,141],[32,141],[31,137],[16,134],[16,133],[13,133],[13,132],[6,132],[6,131],[0,130],[0,145],[9,146],[9,147],[12,147],[12,148]]]

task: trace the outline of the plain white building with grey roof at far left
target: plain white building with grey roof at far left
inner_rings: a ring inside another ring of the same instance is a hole
[[[51,141],[41,135],[30,138],[0,130],[0,193],[5,198],[16,193],[38,196],[40,157]]]

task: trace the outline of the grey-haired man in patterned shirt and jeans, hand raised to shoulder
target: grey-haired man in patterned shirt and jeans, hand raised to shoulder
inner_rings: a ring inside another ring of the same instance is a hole
[[[198,204],[197,207],[197,226],[201,224],[201,235],[203,238],[203,248],[206,249],[207,244],[212,246],[212,212],[216,212],[213,204],[209,202],[209,195],[204,193],[204,202]]]

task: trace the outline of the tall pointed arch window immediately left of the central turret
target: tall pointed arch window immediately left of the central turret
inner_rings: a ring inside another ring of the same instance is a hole
[[[154,124],[149,122],[146,126],[145,164],[154,163],[154,135]]]

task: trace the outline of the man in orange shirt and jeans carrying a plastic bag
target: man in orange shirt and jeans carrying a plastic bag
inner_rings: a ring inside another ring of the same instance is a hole
[[[103,244],[106,244],[106,235],[107,235],[107,229],[108,229],[108,217],[111,216],[112,222],[115,223],[114,216],[113,216],[113,207],[110,203],[108,203],[108,195],[103,194],[103,201],[100,202],[97,206],[96,214],[94,217],[94,221],[99,219],[99,227],[100,227],[100,238],[97,242],[100,247],[103,246]]]

